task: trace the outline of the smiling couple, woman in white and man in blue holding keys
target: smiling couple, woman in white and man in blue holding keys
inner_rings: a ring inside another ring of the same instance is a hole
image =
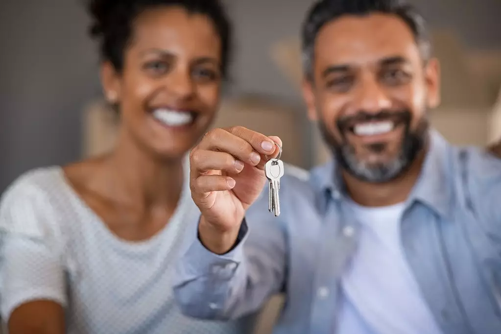
[[[501,160],[429,129],[439,65],[411,7],[308,13],[303,92],[334,159],[282,178],[278,218],[263,165],[280,138],[199,141],[230,54],[218,2],[90,7],[118,145],[4,194],[10,333],[243,333],[279,292],[277,333],[501,332]]]

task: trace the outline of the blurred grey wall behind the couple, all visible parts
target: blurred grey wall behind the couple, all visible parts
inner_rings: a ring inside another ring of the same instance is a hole
[[[413,2],[433,26],[457,30],[465,44],[501,47],[501,1]],[[80,156],[81,111],[100,94],[96,49],[86,35],[81,3],[0,1],[0,191],[28,169]],[[231,93],[265,93],[301,103],[270,60],[269,47],[298,34],[312,1],[228,3],[237,23]]]

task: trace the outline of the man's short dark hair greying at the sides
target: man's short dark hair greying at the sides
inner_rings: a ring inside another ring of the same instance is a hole
[[[431,57],[431,43],[426,22],[416,9],[400,0],[321,0],[315,3],[303,23],[302,57],[303,71],[313,80],[315,41],[326,24],[344,15],[392,14],[402,19],[410,28],[423,61]]]

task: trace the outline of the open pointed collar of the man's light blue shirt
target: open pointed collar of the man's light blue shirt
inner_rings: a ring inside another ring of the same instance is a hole
[[[420,176],[409,196],[408,203],[414,201],[423,203],[437,214],[446,217],[451,209],[452,189],[450,186],[449,144],[435,130],[429,133],[429,148],[426,153]],[[340,168],[335,159],[312,172],[312,177],[320,185],[320,190],[341,200],[346,194],[346,188],[341,178]]]

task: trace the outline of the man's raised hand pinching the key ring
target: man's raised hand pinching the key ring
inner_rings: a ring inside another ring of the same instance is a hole
[[[279,153],[278,137],[243,128],[214,129],[190,154],[191,197],[202,213],[202,243],[214,253],[235,243],[245,210],[263,190],[264,166]],[[266,208],[263,208],[265,210]]]

